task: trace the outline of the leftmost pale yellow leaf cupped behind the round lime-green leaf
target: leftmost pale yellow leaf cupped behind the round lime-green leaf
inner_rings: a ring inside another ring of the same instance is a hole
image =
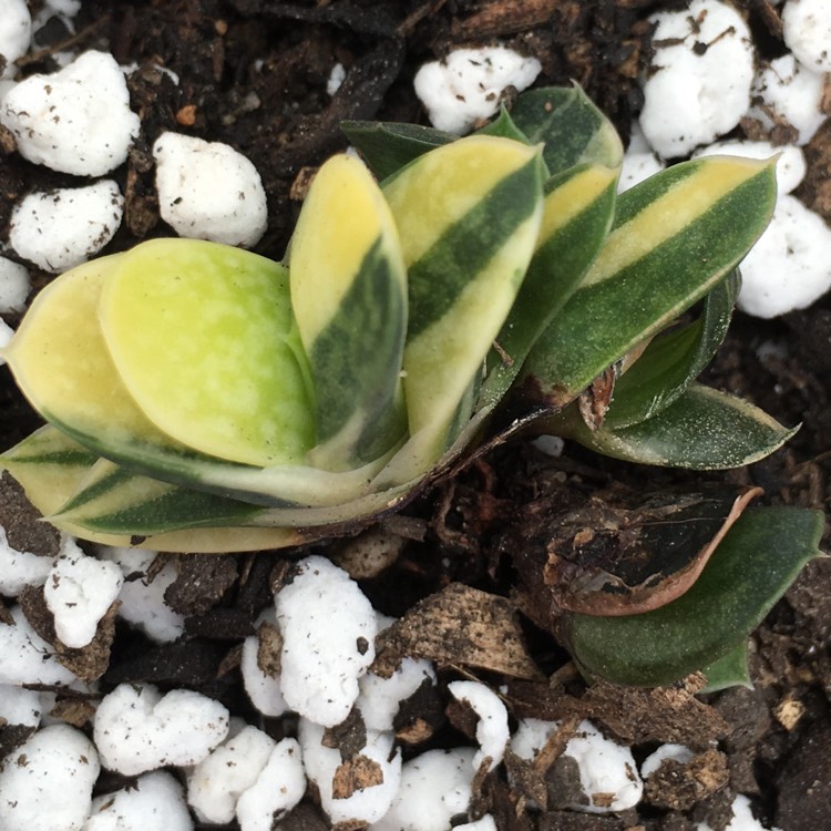
[[[124,388],[94,326],[101,287],[124,256],[92,260],[53,280],[3,350],[18,384],[43,418],[95,456],[255,504],[331,505],[368,489],[389,454],[343,473],[289,464],[258,468],[196,453],[153,424]],[[310,421],[310,413],[306,418]]]

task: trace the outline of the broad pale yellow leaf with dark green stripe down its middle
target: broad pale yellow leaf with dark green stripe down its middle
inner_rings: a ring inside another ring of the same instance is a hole
[[[450,423],[531,261],[542,177],[536,148],[470,136],[384,185],[408,267],[404,392],[410,435],[427,435],[423,470],[454,438]]]

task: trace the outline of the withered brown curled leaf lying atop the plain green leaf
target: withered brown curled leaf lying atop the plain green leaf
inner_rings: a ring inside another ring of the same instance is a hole
[[[759,488],[652,494],[623,504],[596,493],[534,516],[514,562],[538,612],[618,616],[683,595]],[[519,536],[519,535],[517,535]]]

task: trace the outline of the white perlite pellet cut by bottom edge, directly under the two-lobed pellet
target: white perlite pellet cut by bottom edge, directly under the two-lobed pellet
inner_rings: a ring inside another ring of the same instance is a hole
[[[95,797],[83,831],[192,831],[182,786],[162,771]]]

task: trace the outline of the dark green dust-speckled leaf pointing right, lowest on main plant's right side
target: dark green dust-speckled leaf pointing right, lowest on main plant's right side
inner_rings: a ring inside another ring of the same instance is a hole
[[[657,416],[622,430],[588,428],[572,404],[546,431],[592,450],[640,464],[726,470],[758,462],[780,448],[788,429],[749,401],[694,383]]]

